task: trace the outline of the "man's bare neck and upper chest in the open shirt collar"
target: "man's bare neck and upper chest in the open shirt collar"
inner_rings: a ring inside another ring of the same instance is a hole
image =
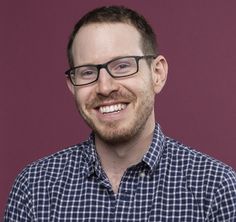
[[[148,151],[154,128],[155,123],[142,130],[135,138],[112,145],[95,136],[96,150],[114,192],[118,192],[120,180],[126,169],[140,162]]]

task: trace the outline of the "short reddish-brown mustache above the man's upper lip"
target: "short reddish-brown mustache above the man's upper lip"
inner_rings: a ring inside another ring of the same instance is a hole
[[[87,103],[88,108],[94,108],[101,106],[104,102],[114,102],[114,101],[125,101],[129,102],[135,100],[135,96],[131,93],[124,93],[124,92],[112,92],[108,96],[104,95],[96,95],[91,101]]]

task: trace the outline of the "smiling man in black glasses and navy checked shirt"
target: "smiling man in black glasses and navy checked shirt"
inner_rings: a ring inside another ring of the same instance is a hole
[[[5,221],[235,221],[235,172],[155,123],[168,66],[142,16],[89,12],[68,58],[68,88],[93,132],[18,176]]]

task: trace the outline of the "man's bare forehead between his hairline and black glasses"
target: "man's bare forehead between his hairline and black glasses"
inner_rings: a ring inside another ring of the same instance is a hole
[[[118,56],[142,55],[140,34],[126,23],[92,23],[83,26],[76,34],[72,54],[75,59],[95,62]],[[83,63],[84,63],[83,62]]]

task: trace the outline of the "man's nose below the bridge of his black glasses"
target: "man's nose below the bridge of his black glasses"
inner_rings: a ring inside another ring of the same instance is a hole
[[[108,96],[110,93],[117,90],[117,80],[114,79],[105,68],[101,68],[99,78],[97,80],[97,93]]]

